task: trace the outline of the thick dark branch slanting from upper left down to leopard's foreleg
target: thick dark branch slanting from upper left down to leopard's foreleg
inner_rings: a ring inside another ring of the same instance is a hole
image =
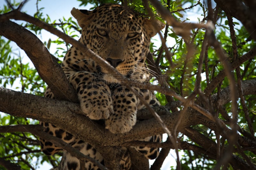
[[[26,52],[56,99],[78,101],[75,89],[68,83],[60,65],[52,60],[51,54],[36,35],[12,21],[0,22],[0,35],[16,42]]]

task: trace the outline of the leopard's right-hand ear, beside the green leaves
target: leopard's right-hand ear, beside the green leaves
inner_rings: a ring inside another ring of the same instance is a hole
[[[154,22],[154,20],[151,18],[145,18],[145,20],[145,28],[150,37],[154,37],[156,33],[158,33],[158,31],[162,30],[165,27],[165,24],[159,20],[155,20],[156,22]]]

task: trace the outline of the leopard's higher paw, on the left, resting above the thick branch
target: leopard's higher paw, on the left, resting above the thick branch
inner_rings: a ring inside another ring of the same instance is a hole
[[[108,101],[110,100],[110,101]],[[90,119],[108,119],[109,115],[114,113],[111,98],[103,99],[102,96],[93,96],[81,102],[80,105],[83,113]]]

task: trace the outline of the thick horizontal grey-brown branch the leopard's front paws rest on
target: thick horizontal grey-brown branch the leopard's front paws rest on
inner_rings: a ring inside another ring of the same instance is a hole
[[[244,95],[248,95],[250,92],[252,92],[248,89],[246,90],[246,88],[250,87],[250,89],[256,89],[255,81],[256,80],[250,80],[242,83],[244,86]],[[248,86],[248,84],[250,84],[250,86]],[[227,90],[223,93],[225,94]],[[94,121],[81,115],[82,113],[77,104],[67,101],[48,99],[32,94],[15,92],[4,88],[0,88],[0,96],[4,96],[4,98],[0,97],[0,111],[14,116],[29,117],[44,122],[50,122],[62,129],[67,130],[71,134],[79,134],[81,139],[94,146],[102,144],[118,146],[124,142],[138,140],[141,137],[148,137],[163,133],[163,129],[159,124],[156,123],[155,119],[149,119],[137,123],[128,133],[112,134],[103,127],[100,127]],[[226,101],[229,100],[230,98]],[[38,103],[40,103],[40,105],[38,105]],[[164,109],[162,111],[163,114],[164,111],[166,110]],[[166,114],[167,115],[163,115],[161,117],[164,120],[164,123],[166,123],[167,127],[172,129],[174,123],[177,121],[177,116],[179,113],[170,114],[166,112]],[[198,122],[204,122],[207,124],[209,121],[206,121],[201,114],[188,109],[187,114],[184,116],[178,130],[195,125]],[[77,124],[81,124],[81,126],[77,127]],[[87,133],[93,133],[93,135],[86,136]]]

